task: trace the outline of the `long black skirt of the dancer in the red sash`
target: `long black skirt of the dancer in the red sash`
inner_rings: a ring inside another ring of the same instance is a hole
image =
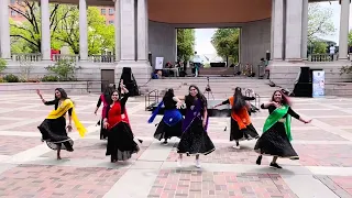
[[[125,122],[120,122],[108,132],[108,145],[106,155],[111,155],[111,161],[127,161],[133,153],[140,151],[134,142],[131,128]]]

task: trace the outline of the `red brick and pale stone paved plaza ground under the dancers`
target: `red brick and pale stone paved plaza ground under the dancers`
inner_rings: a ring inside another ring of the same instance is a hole
[[[45,96],[51,99],[53,96]],[[217,151],[201,156],[202,168],[186,157],[178,168],[177,140],[163,146],[152,139],[154,124],[146,124],[150,112],[144,101],[131,98],[128,111],[132,130],[144,140],[142,150],[125,163],[111,164],[105,156],[106,142],[99,140],[99,117],[92,112],[98,96],[70,96],[89,133],[77,132],[75,152],[55,152],[41,140],[36,127],[53,107],[44,107],[36,95],[0,96],[0,197],[82,198],[266,198],[352,197],[352,99],[295,99],[294,110],[314,118],[311,124],[293,122],[294,147],[300,161],[279,160],[284,169],[254,164],[255,142],[243,142],[233,150],[228,118],[211,118],[209,135]],[[263,100],[262,100],[263,101]],[[266,111],[252,117],[258,131]],[[161,118],[157,118],[157,121]]]

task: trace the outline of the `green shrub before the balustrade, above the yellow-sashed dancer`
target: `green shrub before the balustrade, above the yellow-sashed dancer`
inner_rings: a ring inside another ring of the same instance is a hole
[[[53,66],[47,66],[46,69],[53,72],[61,81],[72,81],[75,80],[75,72],[79,68],[75,67],[72,61],[59,59]]]

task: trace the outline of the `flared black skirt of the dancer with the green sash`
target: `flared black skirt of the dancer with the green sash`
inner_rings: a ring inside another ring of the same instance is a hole
[[[263,133],[257,140],[254,150],[262,155],[292,160],[299,158],[286,135],[285,125],[282,122],[275,123],[268,131]]]

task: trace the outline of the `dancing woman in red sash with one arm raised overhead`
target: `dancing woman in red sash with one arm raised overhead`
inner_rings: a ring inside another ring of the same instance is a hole
[[[140,151],[139,145],[133,140],[134,136],[129,119],[124,114],[125,102],[130,94],[122,82],[120,87],[124,96],[120,98],[120,94],[117,90],[112,92],[112,103],[108,106],[107,114],[103,119],[103,127],[109,130],[106,155],[111,156],[111,163],[127,161],[132,157],[133,153]]]

